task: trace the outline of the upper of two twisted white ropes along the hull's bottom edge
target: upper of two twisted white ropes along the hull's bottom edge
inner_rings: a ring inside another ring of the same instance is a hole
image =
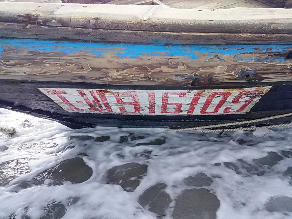
[[[223,126],[241,125],[241,124],[247,124],[247,123],[253,123],[253,122],[266,121],[269,119],[278,119],[278,118],[288,117],[288,116],[292,116],[292,113],[286,113],[286,114],[270,116],[270,117],[265,117],[265,118],[260,118],[260,119],[247,120],[247,121],[222,123],[222,124],[209,125],[209,126],[198,126],[198,127],[192,127],[192,128],[171,129],[171,130],[166,130],[164,132],[189,131],[189,130],[197,130],[197,129],[204,129],[204,128],[217,128],[217,127],[223,127]]]

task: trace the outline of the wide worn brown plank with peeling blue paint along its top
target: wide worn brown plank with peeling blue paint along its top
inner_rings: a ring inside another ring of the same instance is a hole
[[[291,49],[1,39],[0,78],[153,86],[291,81]]]

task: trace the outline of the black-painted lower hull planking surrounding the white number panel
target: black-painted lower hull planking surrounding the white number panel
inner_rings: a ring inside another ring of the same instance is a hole
[[[228,115],[206,115],[206,116],[139,116],[139,115],[103,115],[103,114],[92,114],[92,113],[69,113],[63,110],[61,107],[58,107],[53,101],[26,101],[24,98],[28,94],[36,94],[39,95],[39,99],[42,99],[42,93],[38,90],[38,88],[74,88],[74,89],[123,89],[121,86],[103,86],[99,84],[91,84],[91,83],[72,83],[72,82],[51,82],[51,81],[12,81],[12,80],[0,80],[0,93],[6,90],[17,91],[14,96],[18,98],[4,97],[0,96],[0,106],[9,106],[8,108],[12,108],[12,110],[17,110],[20,112],[28,112],[32,115],[44,114],[49,116],[51,119],[61,120],[65,125],[74,125],[74,124],[84,124],[90,125],[93,127],[94,125],[108,125],[108,126],[121,126],[121,127],[172,127],[177,128],[178,126],[181,128],[186,127],[196,127],[201,125],[210,125],[210,124],[218,124],[223,123],[224,121],[239,121],[239,120],[247,120],[247,119],[256,119],[262,118],[277,114],[284,114],[291,112],[291,91],[292,86],[290,85],[275,85],[273,86],[268,93],[266,93],[260,101],[251,109],[251,112],[246,114],[228,114]],[[232,88],[241,88],[242,85],[234,85]],[[251,86],[247,86],[251,87]],[[139,89],[141,87],[131,88],[131,86],[127,87],[129,89]],[[197,87],[199,90],[201,88]],[[215,87],[208,87],[208,89],[214,89]],[[152,90],[153,88],[148,87],[148,90]],[[160,87],[161,89],[161,87]],[[173,89],[177,89],[177,87],[173,87]],[[206,89],[206,87],[202,88]],[[288,95],[287,95],[288,94]],[[281,100],[279,97],[286,96],[287,99]],[[21,101],[21,103],[19,102]],[[270,120],[268,123],[272,122],[286,122],[291,121],[291,117]],[[253,125],[253,124],[249,124]],[[73,126],[70,126],[74,128]],[[75,127],[76,128],[76,127]],[[79,126],[80,128],[80,126]]]

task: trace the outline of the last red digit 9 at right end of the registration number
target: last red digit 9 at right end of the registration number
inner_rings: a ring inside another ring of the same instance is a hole
[[[239,109],[231,111],[231,107],[226,107],[224,109],[224,113],[237,113],[243,111],[253,100],[257,97],[256,94],[262,93],[260,90],[253,90],[253,91],[242,91],[240,92],[234,99],[232,100],[232,103],[244,103]],[[242,96],[248,95],[249,99],[248,100],[240,100]]]

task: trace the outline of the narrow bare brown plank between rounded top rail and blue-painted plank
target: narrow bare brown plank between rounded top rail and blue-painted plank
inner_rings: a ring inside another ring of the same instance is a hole
[[[131,31],[93,29],[79,27],[58,27],[24,25],[22,23],[0,22],[0,37],[30,39],[75,39],[97,42],[147,43],[147,44],[291,44],[292,34],[217,34],[176,33],[156,31]]]

